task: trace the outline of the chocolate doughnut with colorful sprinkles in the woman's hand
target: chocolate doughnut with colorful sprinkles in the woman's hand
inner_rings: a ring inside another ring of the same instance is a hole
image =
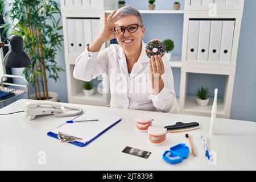
[[[157,39],[151,40],[146,45],[146,55],[147,57],[151,57],[152,55],[161,55],[163,57],[166,48],[164,44]]]

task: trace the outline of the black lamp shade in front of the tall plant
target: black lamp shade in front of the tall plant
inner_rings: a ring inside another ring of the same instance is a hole
[[[23,51],[23,40],[19,35],[12,35],[10,38],[10,51],[3,59],[3,64],[10,68],[24,68],[31,64],[30,57]]]

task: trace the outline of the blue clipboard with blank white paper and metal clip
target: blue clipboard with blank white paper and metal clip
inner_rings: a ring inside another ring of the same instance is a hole
[[[98,121],[64,123],[64,125],[49,131],[47,135],[61,139],[61,142],[64,139],[65,142],[85,147],[121,121],[120,117],[94,110],[86,111],[86,113],[74,118],[73,121],[88,119],[98,119]]]

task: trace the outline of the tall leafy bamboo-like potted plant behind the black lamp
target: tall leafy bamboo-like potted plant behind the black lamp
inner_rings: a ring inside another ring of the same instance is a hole
[[[55,0],[10,1],[4,15],[6,20],[2,35],[10,34],[23,38],[23,48],[32,64],[24,68],[23,75],[34,89],[31,98],[57,101],[57,93],[48,91],[48,80],[59,80],[64,71],[55,58],[63,46],[63,35],[59,32],[60,5]],[[59,17],[59,18],[56,18]]]

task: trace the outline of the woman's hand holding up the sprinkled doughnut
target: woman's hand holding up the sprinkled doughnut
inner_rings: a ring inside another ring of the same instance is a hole
[[[156,95],[164,87],[162,75],[164,73],[164,64],[160,55],[154,55],[150,57],[150,76],[152,83],[153,94]]]

